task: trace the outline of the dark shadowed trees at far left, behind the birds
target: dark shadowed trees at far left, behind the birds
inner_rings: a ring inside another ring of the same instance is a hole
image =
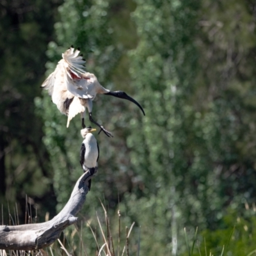
[[[16,202],[24,213],[26,195],[35,199],[38,210],[55,212],[43,122],[35,115],[33,101],[40,95],[45,51],[54,38],[52,25],[60,4],[58,0],[0,3],[0,198],[6,214],[7,201],[11,211]]]

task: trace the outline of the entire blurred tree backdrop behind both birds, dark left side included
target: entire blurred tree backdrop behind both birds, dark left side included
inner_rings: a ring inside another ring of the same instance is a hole
[[[18,37],[4,29],[12,28],[7,12],[0,26],[1,49],[10,45],[0,57],[5,63],[0,74],[0,152],[15,148],[4,163],[0,158],[0,166],[10,173],[4,178],[8,196],[20,190],[43,196],[52,184],[59,210],[81,175],[79,116],[67,129],[67,117],[47,92],[41,97],[39,88],[31,93],[28,87],[43,80],[46,58],[38,51],[45,49],[45,42],[51,40],[47,75],[61,53],[74,45],[84,54],[88,72],[109,90],[132,95],[146,113],[142,116],[136,106],[120,99],[97,95],[94,100],[95,120],[114,138],[97,136],[99,173],[85,218],[101,207],[95,198],[104,198],[110,216],[120,202],[125,221],[136,221],[134,232],[141,232],[141,255],[188,252],[184,227],[189,248],[198,227],[205,230],[198,237],[205,237],[206,254],[236,255],[235,248],[237,255],[253,252],[250,223],[255,220],[244,216],[238,222],[232,216],[240,216],[244,202],[255,201],[256,195],[255,4],[66,0],[58,8],[54,38],[47,37],[50,25],[40,26],[45,17],[52,17],[51,8],[42,1],[36,4],[42,12],[24,16]],[[24,46],[15,55],[17,44]],[[36,116],[30,108],[34,99]],[[19,131],[16,118],[21,120]],[[86,125],[92,125],[88,118]],[[19,174],[20,163],[26,164],[26,173]],[[227,207],[236,211],[227,214]],[[92,241],[91,235],[85,236]],[[136,247],[136,239],[131,243]],[[202,239],[201,252],[204,246]]]

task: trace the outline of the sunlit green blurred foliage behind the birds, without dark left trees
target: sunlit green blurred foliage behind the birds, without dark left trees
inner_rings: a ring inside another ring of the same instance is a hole
[[[246,184],[255,180],[254,162],[244,151],[248,129],[254,129],[249,116],[255,106],[247,96],[253,86],[246,79],[253,77],[253,68],[249,72],[243,61],[252,53],[254,35],[245,29],[252,26],[252,13],[243,1],[227,6],[209,1],[135,4],[65,1],[47,67],[51,72],[69,45],[81,47],[89,72],[111,90],[134,93],[145,108],[141,118],[124,102],[95,99],[93,115],[115,138],[97,136],[101,152],[93,197],[104,194],[115,209],[119,193],[120,207],[147,237],[141,253],[164,255],[172,248],[175,254],[175,239],[180,252],[186,251],[183,227],[189,234],[197,226],[217,228],[224,205],[238,211],[243,198],[253,195]],[[244,10],[239,26],[225,15],[227,8],[230,13]],[[81,173],[80,121],[77,116],[67,130],[65,116],[49,97],[36,99],[36,105],[45,120],[44,142],[62,207]]]

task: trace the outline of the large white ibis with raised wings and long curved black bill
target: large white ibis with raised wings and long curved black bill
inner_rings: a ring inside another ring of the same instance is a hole
[[[84,117],[86,109],[89,112],[89,119],[100,127],[107,136],[111,137],[111,132],[92,118],[92,101],[97,93],[111,95],[121,99],[130,100],[136,104],[143,115],[145,112],[140,104],[132,99],[125,92],[111,92],[100,85],[94,74],[84,70],[85,60],[79,56],[80,51],[70,47],[62,54],[62,59],[58,62],[54,72],[52,72],[42,84],[42,88],[49,90],[52,102],[56,104],[61,113],[68,116],[67,127],[70,120],[78,113],[81,113],[82,127],[85,128]]]

